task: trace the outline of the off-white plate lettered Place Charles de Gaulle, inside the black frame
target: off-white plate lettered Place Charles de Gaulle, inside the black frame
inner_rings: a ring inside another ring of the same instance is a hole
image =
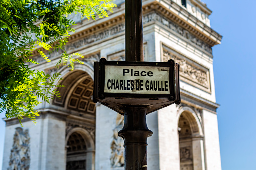
[[[104,92],[170,94],[169,67],[105,65]]]

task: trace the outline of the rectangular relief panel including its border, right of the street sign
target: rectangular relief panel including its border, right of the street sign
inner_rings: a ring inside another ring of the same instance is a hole
[[[163,62],[167,62],[169,59],[173,59],[176,63],[180,64],[181,80],[185,80],[191,85],[210,92],[209,69],[196,64],[182,55],[175,54],[175,52],[172,52],[163,46],[162,60]]]

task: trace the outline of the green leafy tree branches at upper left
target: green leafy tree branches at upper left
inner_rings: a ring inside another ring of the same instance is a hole
[[[7,118],[24,116],[35,121],[38,111],[34,110],[41,98],[45,102],[56,95],[55,85],[60,82],[59,73],[53,76],[43,71],[32,70],[27,63],[38,64],[31,59],[37,52],[47,62],[50,60],[44,51],[63,51],[56,67],[74,62],[82,63],[68,55],[64,46],[70,32],[75,32],[75,23],[67,17],[81,14],[81,19],[108,17],[116,5],[112,0],[0,0],[0,112],[6,111]],[[35,35],[37,40],[33,40]]]

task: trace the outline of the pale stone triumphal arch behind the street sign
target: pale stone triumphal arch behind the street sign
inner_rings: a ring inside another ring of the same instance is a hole
[[[183,2],[183,3],[182,3]],[[184,2],[186,4],[184,5]],[[61,51],[48,54],[33,69],[63,77],[61,98],[42,103],[34,125],[6,120],[3,169],[124,169],[123,140],[117,132],[123,117],[92,102],[93,63],[124,60],[124,1],[109,18],[77,21],[68,53],[84,55],[84,64],[55,68]],[[144,60],[174,59],[180,64],[181,105],[147,115],[149,170],[220,170],[220,149],[213,77],[212,47],[221,36],[210,28],[211,11],[199,0],[143,1]],[[12,141],[12,142],[10,142]],[[19,153],[19,155],[18,155]]]

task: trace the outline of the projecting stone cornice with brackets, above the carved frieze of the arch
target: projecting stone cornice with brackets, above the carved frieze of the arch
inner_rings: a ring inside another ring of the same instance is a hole
[[[163,4],[165,3],[165,4]],[[196,38],[209,46],[220,44],[222,36],[212,30],[210,27],[199,21],[196,17],[188,13],[184,8],[172,2],[171,4],[161,1],[146,0],[143,1],[143,14],[155,11],[183,29],[189,31]],[[124,4],[121,4],[114,10],[109,18],[99,19],[97,21],[81,22],[75,27],[76,33],[71,34],[68,44],[74,43],[84,37],[88,37],[99,32],[103,32],[113,26],[124,23]],[[38,55],[37,51],[33,52]]]

